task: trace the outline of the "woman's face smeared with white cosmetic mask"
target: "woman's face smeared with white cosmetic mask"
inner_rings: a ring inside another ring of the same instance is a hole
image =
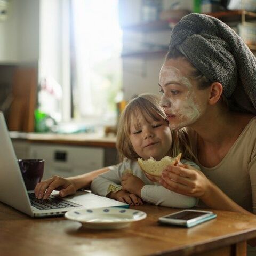
[[[164,64],[159,74],[159,85],[163,90],[161,105],[171,129],[189,126],[201,116],[193,85],[178,68]]]

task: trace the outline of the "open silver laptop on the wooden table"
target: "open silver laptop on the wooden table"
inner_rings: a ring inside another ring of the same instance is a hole
[[[64,199],[54,191],[44,201],[34,197],[34,191],[27,191],[20,167],[14,153],[4,115],[0,112],[0,201],[31,217],[63,215],[73,209],[100,207],[129,207],[128,204],[107,197],[78,191]]]

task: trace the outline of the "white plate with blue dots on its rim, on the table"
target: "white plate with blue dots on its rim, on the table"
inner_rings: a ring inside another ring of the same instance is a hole
[[[147,214],[139,210],[105,207],[72,210],[66,212],[65,217],[69,220],[81,222],[86,228],[119,229],[129,226],[133,221],[145,219]]]

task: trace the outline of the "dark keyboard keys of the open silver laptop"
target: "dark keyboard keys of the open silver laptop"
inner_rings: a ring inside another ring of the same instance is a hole
[[[28,196],[29,196],[31,205],[36,207],[39,210],[82,206],[80,204],[76,204],[76,203],[70,202],[68,200],[65,200],[65,199],[62,199],[59,197],[55,197],[55,196],[50,196],[49,198],[47,198],[45,200],[37,199],[35,197],[34,193],[29,193]]]

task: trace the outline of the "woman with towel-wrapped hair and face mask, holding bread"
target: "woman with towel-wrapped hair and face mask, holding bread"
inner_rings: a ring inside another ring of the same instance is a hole
[[[165,188],[214,209],[256,212],[255,78],[256,58],[225,23],[190,14],[175,26],[159,75],[162,106],[171,129],[188,127],[202,172],[167,167]]]

